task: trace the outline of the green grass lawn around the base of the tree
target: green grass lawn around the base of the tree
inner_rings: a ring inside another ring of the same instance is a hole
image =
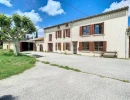
[[[32,68],[36,59],[20,54],[15,56],[9,51],[0,50],[0,79],[10,77]]]

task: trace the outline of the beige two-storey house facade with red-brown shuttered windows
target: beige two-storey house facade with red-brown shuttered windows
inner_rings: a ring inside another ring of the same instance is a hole
[[[88,56],[117,52],[118,58],[128,58],[127,28],[128,7],[48,27],[44,29],[43,51]]]

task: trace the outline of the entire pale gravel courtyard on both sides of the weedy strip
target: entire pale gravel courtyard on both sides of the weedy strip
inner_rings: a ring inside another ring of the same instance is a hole
[[[24,52],[41,61],[130,80],[130,60]],[[42,57],[43,56],[43,57]],[[130,100],[130,83],[37,62],[22,74],[0,80],[0,100]],[[4,98],[4,99],[2,99]]]

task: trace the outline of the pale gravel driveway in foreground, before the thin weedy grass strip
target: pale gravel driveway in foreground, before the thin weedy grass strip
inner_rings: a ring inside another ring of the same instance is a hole
[[[66,64],[70,64],[72,57],[77,56],[70,56]],[[37,62],[32,69],[1,80],[0,97],[9,98],[6,100],[130,100],[130,83]]]

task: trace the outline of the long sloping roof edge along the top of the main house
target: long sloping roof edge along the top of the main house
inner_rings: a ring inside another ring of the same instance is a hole
[[[67,24],[67,23],[70,23],[70,22],[76,22],[76,21],[80,21],[80,20],[84,20],[84,19],[90,19],[90,18],[94,18],[94,17],[98,17],[98,16],[102,16],[102,15],[106,15],[106,14],[110,14],[110,13],[114,13],[114,12],[119,12],[119,11],[123,11],[123,10],[128,10],[128,9],[129,9],[129,7],[126,6],[126,7],[115,9],[115,10],[111,10],[111,11],[108,11],[108,12],[103,12],[101,14],[96,14],[96,15],[93,15],[93,16],[89,16],[89,17],[85,17],[85,18],[80,18],[80,19],[69,21],[69,22],[65,22],[65,23],[62,23],[62,24],[58,24],[58,25],[46,27],[44,29],[49,29],[49,28],[56,27],[56,26],[59,26],[59,25],[64,25],[64,24]]]

